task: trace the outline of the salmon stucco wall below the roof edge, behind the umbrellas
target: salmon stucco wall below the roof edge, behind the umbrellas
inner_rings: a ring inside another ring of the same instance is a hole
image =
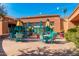
[[[47,18],[49,19],[50,22],[54,22],[53,29],[56,32],[61,32],[63,30],[63,24],[62,24],[62,19],[60,17],[45,17],[45,18],[30,18],[30,19],[21,19],[24,23],[31,22],[31,23],[36,23],[40,22],[40,19],[42,20],[43,23],[46,23]]]

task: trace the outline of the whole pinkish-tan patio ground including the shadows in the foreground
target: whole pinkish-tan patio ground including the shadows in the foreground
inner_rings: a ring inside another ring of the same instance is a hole
[[[75,56],[79,55],[74,43],[57,39],[52,44],[40,41],[15,42],[3,40],[3,49],[8,56]]]

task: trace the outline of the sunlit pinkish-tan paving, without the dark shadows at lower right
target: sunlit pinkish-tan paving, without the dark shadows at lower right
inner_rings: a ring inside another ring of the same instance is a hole
[[[53,44],[46,44],[40,41],[29,41],[29,42],[15,42],[12,40],[3,40],[2,47],[7,55],[41,55],[38,51],[62,51],[72,50],[75,45],[72,42],[66,42],[65,39],[56,39]],[[46,52],[44,55],[46,55]],[[38,54],[39,53],[39,54]],[[61,53],[60,53],[61,54]],[[49,54],[51,55],[51,54]],[[55,55],[55,54],[54,54]]]

